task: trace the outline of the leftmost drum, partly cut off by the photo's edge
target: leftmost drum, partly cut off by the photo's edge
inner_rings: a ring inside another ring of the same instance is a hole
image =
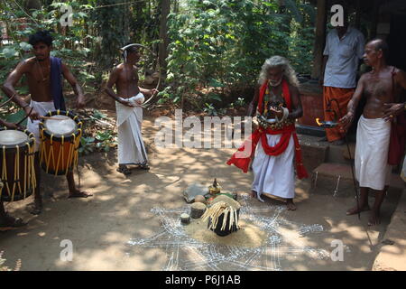
[[[0,128],[1,200],[23,200],[32,194],[36,185],[34,142],[27,130]]]

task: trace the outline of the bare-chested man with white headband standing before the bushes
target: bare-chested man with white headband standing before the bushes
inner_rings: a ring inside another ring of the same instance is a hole
[[[143,122],[144,96],[150,97],[156,89],[138,87],[138,70],[135,64],[141,53],[135,45],[123,48],[124,62],[111,72],[106,85],[106,93],[115,99],[118,126],[118,168],[117,172],[127,175],[131,171],[127,164],[138,165],[138,168],[149,170],[148,158],[141,134]],[[117,93],[115,94],[113,86]]]

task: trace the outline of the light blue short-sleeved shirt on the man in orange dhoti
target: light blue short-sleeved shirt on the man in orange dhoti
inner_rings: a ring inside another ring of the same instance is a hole
[[[356,70],[359,60],[364,55],[364,35],[348,27],[343,38],[338,38],[337,29],[328,33],[323,55],[328,55],[324,86],[354,89],[356,87]]]

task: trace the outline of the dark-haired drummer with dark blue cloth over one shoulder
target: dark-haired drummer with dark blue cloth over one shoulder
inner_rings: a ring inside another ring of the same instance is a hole
[[[42,194],[40,191],[40,158],[39,144],[40,132],[39,123],[41,116],[48,111],[56,109],[66,110],[65,101],[62,95],[62,79],[61,76],[68,80],[70,86],[74,90],[77,98],[77,108],[85,107],[85,97],[80,88],[78,81],[70,73],[68,67],[62,63],[59,58],[51,57],[52,37],[49,31],[39,31],[34,33],[29,38],[29,43],[32,45],[32,52],[35,55],[32,58],[23,60],[18,63],[17,67],[10,73],[5,80],[3,91],[9,98],[23,107],[25,113],[30,114],[27,122],[27,129],[35,135],[35,174],[37,186],[34,193],[34,208],[32,214],[40,214],[42,211]],[[15,84],[26,76],[28,88],[31,94],[30,104],[26,103],[15,91]],[[91,196],[86,191],[78,191],[73,177],[73,171],[67,173],[69,186],[69,198],[87,198]]]

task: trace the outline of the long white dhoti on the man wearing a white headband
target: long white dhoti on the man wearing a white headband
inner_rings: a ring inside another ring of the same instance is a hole
[[[143,96],[139,93],[138,96]],[[118,126],[118,163],[145,164],[148,163],[141,124],[143,122],[142,107],[126,107],[115,102]]]

